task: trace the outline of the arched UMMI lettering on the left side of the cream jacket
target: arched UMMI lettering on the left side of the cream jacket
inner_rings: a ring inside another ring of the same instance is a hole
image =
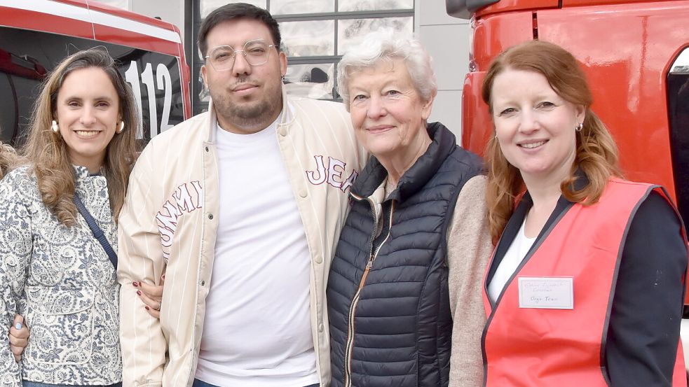
[[[158,232],[161,234],[165,261],[170,258],[170,247],[172,247],[179,217],[201,208],[203,208],[203,189],[198,181],[192,181],[179,185],[175,192],[172,192],[170,199],[163,204],[161,211],[158,211],[156,220]]]

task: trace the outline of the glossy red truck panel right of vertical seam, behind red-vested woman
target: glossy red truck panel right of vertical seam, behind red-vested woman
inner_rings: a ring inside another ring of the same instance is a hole
[[[613,132],[627,178],[660,183],[676,197],[663,90],[669,66],[689,41],[689,3],[656,4],[542,10],[538,38],[567,48],[584,65],[592,108]]]

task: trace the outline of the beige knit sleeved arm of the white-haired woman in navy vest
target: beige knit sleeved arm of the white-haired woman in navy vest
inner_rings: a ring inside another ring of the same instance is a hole
[[[481,335],[486,313],[482,282],[493,251],[485,191],[485,176],[475,176],[464,185],[448,230],[447,264],[453,319],[450,387],[483,384]]]

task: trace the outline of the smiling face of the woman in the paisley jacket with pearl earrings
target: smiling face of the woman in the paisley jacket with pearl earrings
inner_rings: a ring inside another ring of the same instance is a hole
[[[115,87],[102,69],[78,69],[64,78],[57,92],[55,120],[73,164],[92,172],[100,169],[119,111]]]

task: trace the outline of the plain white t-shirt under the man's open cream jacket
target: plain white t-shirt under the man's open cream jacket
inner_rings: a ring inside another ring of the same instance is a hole
[[[318,383],[311,257],[275,129],[218,126],[219,225],[196,378],[223,387]]]

